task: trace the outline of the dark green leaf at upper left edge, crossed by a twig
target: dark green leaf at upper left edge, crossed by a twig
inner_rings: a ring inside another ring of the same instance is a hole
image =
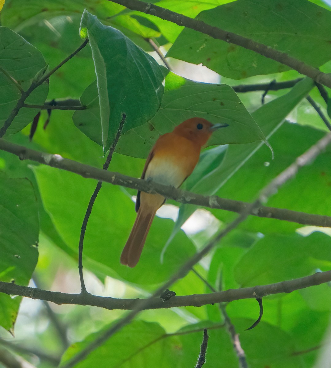
[[[13,77],[26,91],[31,85],[35,75],[46,67],[45,60],[39,50],[29,44],[24,38],[11,29],[0,27],[0,53],[1,66]],[[44,83],[36,88],[25,100],[25,103],[43,105],[48,93],[48,84]],[[0,72],[0,127],[14,109],[20,91],[6,75]],[[14,118],[7,134],[16,133],[28,125],[38,109],[23,107]]]

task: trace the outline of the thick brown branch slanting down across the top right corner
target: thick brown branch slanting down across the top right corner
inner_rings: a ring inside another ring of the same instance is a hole
[[[110,0],[109,0],[110,1]],[[303,63],[294,57],[289,56],[285,52],[273,49],[270,46],[255,42],[249,38],[239,36],[236,33],[227,32],[223,29],[211,26],[205,22],[186,17],[183,14],[175,13],[171,10],[156,6],[150,3],[144,3],[139,0],[111,0],[113,3],[123,5],[131,10],[138,10],[142,13],[155,15],[163,20],[170,21],[180,26],[194,29],[195,31],[205,33],[212,38],[223,40],[234,45],[242,46],[245,49],[252,50],[258,54],[268,57],[272,60],[278,61],[288,67],[298,71],[300,74],[307,75],[316,82],[324,84],[331,88],[331,77],[328,74],[320,72],[318,69]]]

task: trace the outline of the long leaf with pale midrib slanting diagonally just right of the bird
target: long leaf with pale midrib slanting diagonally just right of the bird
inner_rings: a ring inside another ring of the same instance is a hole
[[[267,137],[271,137],[275,131],[281,126],[284,118],[290,113],[290,111],[309,93],[310,89],[313,88],[313,81],[309,78],[303,79],[303,81],[296,84],[290,92],[285,95],[272,100],[271,102],[261,106],[253,114],[253,118],[262,131]],[[228,129],[228,128],[226,128]],[[214,170],[210,171],[209,174],[205,174],[193,185],[190,190],[196,193],[205,195],[212,195],[219,191],[219,195],[222,197],[222,187],[225,183],[238,171],[242,171],[242,166],[253,156],[258,149],[263,146],[262,143],[250,143],[246,145],[232,145],[229,146],[225,158],[221,161],[221,164]],[[269,150],[268,150],[269,151]],[[261,165],[266,161],[270,160],[270,152],[267,152],[261,161]],[[241,169],[241,170],[239,170]],[[252,176],[253,170],[250,171]],[[254,176],[252,177],[254,181]],[[240,188],[245,187],[244,183],[247,181],[247,174],[237,184]],[[259,187],[258,189],[261,189]],[[237,193],[237,192],[236,192]],[[237,199],[235,197],[234,199]],[[183,223],[191,216],[196,210],[197,206],[181,205],[179,209],[179,216],[176,222],[176,226],[173,234]],[[213,210],[215,216],[223,219],[222,216],[228,216],[228,212],[221,210]],[[226,213],[226,215],[224,215]],[[230,216],[234,216],[231,214]],[[232,218],[232,217],[231,217]]]

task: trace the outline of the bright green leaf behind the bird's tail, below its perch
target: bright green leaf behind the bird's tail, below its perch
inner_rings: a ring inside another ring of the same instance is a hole
[[[34,172],[43,205],[59,235],[77,250],[82,221],[96,181],[49,166],[34,167]],[[156,217],[138,265],[134,269],[121,265],[120,254],[135,216],[133,201],[119,187],[104,183],[87,225],[84,257],[99,263],[105,275],[145,285],[163,282],[194,254],[195,247],[181,231],[170,244],[165,262],[160,264],[161,249],[173,222]]]

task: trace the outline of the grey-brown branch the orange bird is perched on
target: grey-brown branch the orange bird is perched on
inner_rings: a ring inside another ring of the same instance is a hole
[[[93,166],[85,165],[70,159],[65,159],[60,155],[38,152],[24,146],[7,142],[4,139],[0,139],[0,149],[13,153],[14,155],[18,156],[20,160],[32,160],[46,164],[48,166],[57,167],[58,169],[71,171],[85,178],[106,181],[107,183],[113,185],[122,185],[123,187],[140,190],[147,193],[162,194],[164,197],[173,199],[180,203],[194,204],[207,208],[222,209],[237,213],[242,212],[249,205],[246,202],[220,198],[216,195],[206,197],[177,188],[167,187],[162,184],[132,178],[130,176],[122,175],[116,172],[97,169]],[[303,225],[331,227],[330,216],[314,215],[288,209],[259,206],[253,212],[251,212],[250,215],[296,222]]]

